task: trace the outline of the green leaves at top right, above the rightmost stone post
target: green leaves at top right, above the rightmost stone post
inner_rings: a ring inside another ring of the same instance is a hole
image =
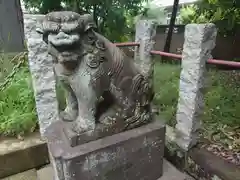
[[[240,4],[234,0],[202,0],[181,9],[181,18],[185,24],[212,22],[220,33],[234,34],[240,24]]]

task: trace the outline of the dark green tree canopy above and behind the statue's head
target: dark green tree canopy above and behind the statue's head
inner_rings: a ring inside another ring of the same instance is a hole
[[[91,13],[99,31],[112,41],[126,41],[133,32],[127,18],[142,12],[146,0],[24,0],[28,10],[46,14],[56,10]]]

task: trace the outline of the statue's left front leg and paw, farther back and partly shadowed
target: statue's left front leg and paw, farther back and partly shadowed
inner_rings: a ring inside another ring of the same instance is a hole
[[[78,116],[78,102],[71,86],[62,82],[66,95],[66,108],[60,112],[60,117],[63,121],[75,121]]]

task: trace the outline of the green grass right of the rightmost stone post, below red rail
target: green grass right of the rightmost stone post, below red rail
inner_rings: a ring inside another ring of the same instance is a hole
[[[218,72],[208,73],[208,89],[205,103],[205,121],[229,126],[240,125],[240,82],[239,73]]]

